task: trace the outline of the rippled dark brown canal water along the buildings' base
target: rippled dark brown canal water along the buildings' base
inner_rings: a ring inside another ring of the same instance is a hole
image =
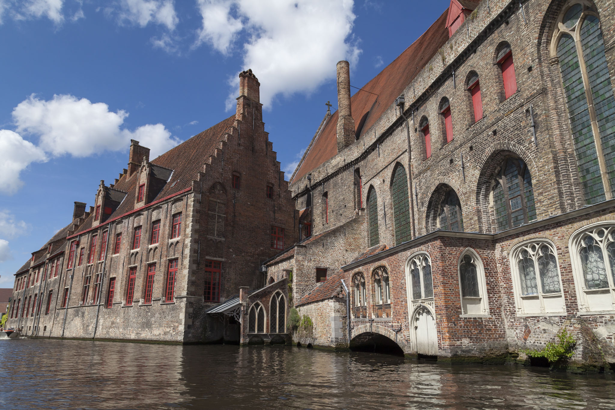
[[[615,409],[615,377],[297,347],[0,340],[4,409]]]

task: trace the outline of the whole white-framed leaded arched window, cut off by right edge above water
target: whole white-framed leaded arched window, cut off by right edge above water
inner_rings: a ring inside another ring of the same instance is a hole
[[[579,310],[615,310],[615,222],[575,232],[569,249]]]

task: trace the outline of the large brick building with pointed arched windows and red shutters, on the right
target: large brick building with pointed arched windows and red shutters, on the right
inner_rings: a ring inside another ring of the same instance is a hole
[[[338,63],[301,241],[266,262],[307,342],[484,360],[565,328],[574,364],[615,362],[614,6],[452,0],[352,97]]]

